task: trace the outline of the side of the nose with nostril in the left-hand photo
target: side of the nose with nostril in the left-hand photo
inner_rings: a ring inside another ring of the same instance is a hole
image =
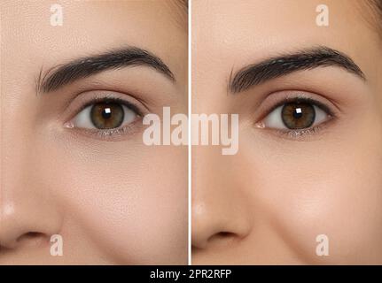
[[[59,233],[62,215],[43,180],[35,145],[18,128],[6,130],[1,137],[0,249],[17,249],[50,241]]]

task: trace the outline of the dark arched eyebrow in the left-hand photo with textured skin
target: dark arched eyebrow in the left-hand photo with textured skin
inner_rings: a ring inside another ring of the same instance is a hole
[[[47,74],[38,77],[37,92],[51,92],[74,80],[83,79],[106,70],[120,69],[127,66],[146,65],[163,73],[168,79],[175,81],[167,65],[160,57],[137,47],[111,50],[99,55],[81,57],[65,65],[52,68]]]

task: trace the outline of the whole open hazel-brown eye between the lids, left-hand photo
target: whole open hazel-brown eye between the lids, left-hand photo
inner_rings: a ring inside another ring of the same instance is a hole
[[[80,111],[71,121],[71,127],[111,130],[128,126],[140,114],[134,105],[118,100],[105,100],[91,103]]]

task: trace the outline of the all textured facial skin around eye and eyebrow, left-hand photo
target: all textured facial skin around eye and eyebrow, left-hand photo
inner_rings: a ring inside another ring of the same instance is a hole
[[[187,147],[149,147],[142,131],[100,141],[64,126],[80,89],[134,93],[152,113],[187,112],[185,11],[173,1],[1,4],[0,264],[187,264]],[[137,66],[36,95],[40,69],[128,45],[175,74]],[[69,105],[69,106],[68,106]],[[51,234],[64,256],[50,255]]]

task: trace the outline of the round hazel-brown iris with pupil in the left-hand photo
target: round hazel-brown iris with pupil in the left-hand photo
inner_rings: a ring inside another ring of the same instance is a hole
[[[97,129],[113,129],[121,126],[124,119],[121,103],[96,103],[91,107],[90,119]]]

